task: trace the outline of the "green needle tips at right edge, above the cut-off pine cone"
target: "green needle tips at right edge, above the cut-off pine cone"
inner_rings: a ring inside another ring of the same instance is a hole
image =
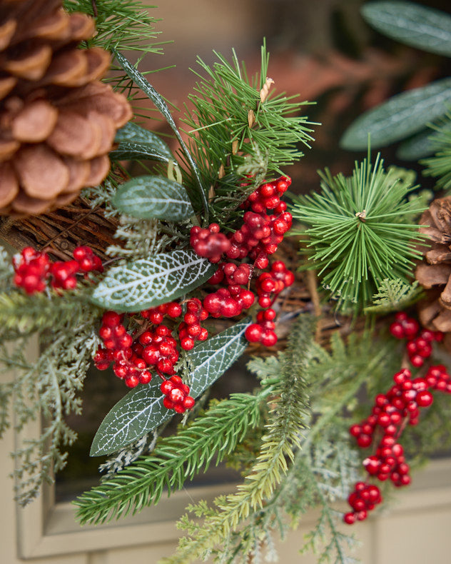
[[[438,126],[431,126],[436,133],[430,139],[435,147],[435,156],[420,161],[427,166],[425,176],[437,178],[435,188],[451,188],[451,113],[448,112]]]

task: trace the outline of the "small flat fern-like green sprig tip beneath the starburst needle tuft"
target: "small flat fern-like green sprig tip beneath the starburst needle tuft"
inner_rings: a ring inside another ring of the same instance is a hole
[[[373,306],[368,306],[364,311],[376,314],[401,311],[412,306],[421,297],[422,288],[418,287],[417,281],[410,284],[400,278],[395,280],[385,278],[373,296]]]

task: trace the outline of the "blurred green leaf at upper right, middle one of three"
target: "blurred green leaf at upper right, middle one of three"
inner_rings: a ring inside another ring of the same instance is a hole
[[[421,131],[446,114],[451,104],[451,78],[393,96],[380,106],[366,111],[351,124],[340,145],[350,151],[383,147]]]

